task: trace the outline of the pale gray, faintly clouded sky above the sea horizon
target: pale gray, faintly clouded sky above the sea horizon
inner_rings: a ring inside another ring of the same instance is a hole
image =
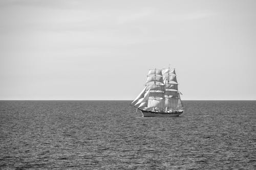
[[[0,100],[256,100],[256,1],[0,1]]]

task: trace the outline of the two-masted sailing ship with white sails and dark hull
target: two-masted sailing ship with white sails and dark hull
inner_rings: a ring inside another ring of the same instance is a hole
[[[176,117],[184,111],[180,94],[175,68],[150,69],[132,106],[144,117]]]

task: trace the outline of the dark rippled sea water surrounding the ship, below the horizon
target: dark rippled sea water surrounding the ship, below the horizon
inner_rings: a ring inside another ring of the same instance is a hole
[[[0,169],[256,169],[256,101],[0,101]]]

